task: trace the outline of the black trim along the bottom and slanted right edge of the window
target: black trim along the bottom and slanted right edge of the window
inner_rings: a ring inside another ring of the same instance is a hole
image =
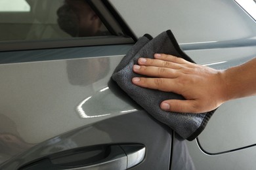
[[[42,39],[35,41],[0,41],[0,52],[16,50],[37,50],[49,48],[68,48],[81,46],[100,46],[110,44],[133,44],[137,41],[129,27],[117,16],[117,12],[108,1],[88,1],[113,35],[98,37],[76,37],[70,39]],[[110,12],[110,10],[112,12]],[[113,16],[113,14],[115,16]],[[119,22],[121,24],[119,24]]]

